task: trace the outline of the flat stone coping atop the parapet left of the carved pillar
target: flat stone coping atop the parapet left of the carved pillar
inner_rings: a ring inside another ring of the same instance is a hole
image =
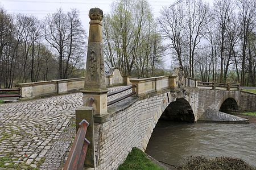
[[[72,82],[72,81],[82,81],[82,80],[85,80],[84,77],[68,78],[68,79],[61,79],[61,80],[38,81],[38,82],[26,82],[26,83],[15,84],[15,86],[22,88],[22,87],[27,87],[27,86],[57,84],[57,83],[61,83],[61,82]]]

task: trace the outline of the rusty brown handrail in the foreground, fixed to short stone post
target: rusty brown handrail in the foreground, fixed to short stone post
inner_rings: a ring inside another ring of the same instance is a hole
[[[85,138],[87,127],[89,123],[86,120],[82,120],[79,123],[79,129],[76,133],[76,138],[73,142],[73,146],[68,155],[68,159],[65,162],[64,170],[67,169],[82,169],[86,157],[86,152],[90,142]]]

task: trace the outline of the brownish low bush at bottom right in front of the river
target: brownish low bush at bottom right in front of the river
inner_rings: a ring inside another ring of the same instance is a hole
[[[177,168],[178,170],[256,170],[251,165],[247,164],[242,159],[233,157],[215,157],[208,159],[204,156],[189,156],[182,167]]]

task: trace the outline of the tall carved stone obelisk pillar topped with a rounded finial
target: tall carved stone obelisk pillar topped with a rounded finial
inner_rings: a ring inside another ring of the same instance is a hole
[[[94,99],[93,107],[96,114],[107,113],[107,92],[105,66],[102,45],[103,11],[90,9],[90,28],[88,51],[86,58],[85,85],[82,90],[84,106],[88,106],[90,98]]]

